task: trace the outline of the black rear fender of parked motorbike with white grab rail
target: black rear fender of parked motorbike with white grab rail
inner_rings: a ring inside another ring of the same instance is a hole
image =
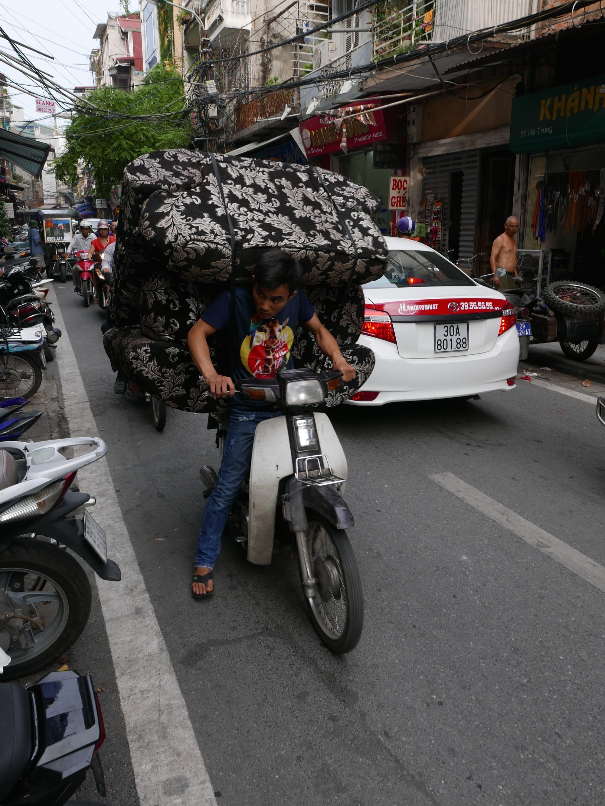
[[[52,538],[81,557],[102,580],[119,582],[122,579],[122,571],[118,564],[111,559],[104,563],[85,541],[83,521],[79,518],[67,518],[70,512],[81,507],[89,501],[89,498],[86,492],[66,492],[60,506],[51,509],[46,515],[28,521],[16,521],[14,525],[4,524],[2,538],[19,538],[23,534],[39,534],[45,538]]]

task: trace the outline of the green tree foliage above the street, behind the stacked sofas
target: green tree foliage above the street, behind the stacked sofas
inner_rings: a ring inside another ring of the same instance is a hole
[[[105,113],[90,114],[91,107],[85,103],[74,112],[65,130],[67,148],[54,163],[61,181],[77,184],[77,166],[82,160],[94,178],[95,192],[107,196],[120,184],[124,166],[131,160],[146,152],[191,143],[191,120],[182,111],[186,106],[183,80],[169,65],[157,64],[131,92],[99,87],[86,99]],[[111,113],[141,117],[116,118]],[[143,115],[159,117],[144,119]]]

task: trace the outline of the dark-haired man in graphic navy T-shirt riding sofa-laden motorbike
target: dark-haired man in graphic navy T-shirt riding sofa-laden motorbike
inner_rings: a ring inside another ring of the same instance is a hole
[[[298,289],[301,269],[296,260],[280,249],[267,251],[259,260],[254,286],[238,285],[231,321],[230,292],[218,295],[189,330],[189,352],[214,399],[233,397],[234,381],[257,377],[274,378],[280,370],[292,368],[291,348],[296,326],[305,325],[317,346],[332,359],[343,380],[352,380],[355,369],[347,364],[334,336],[325,329],[313,305]],[[230,376],[219,375],[210,360],[207,339],[218,330],[230,330],[234,349]],[[197,542],[192,595],[209,596],[214,589],[212,572],[221,550],[221,535],[239,488],[250,467],[255,430],[259,422],[280,416],[274,405],[244,401],[239,395],[231,405],[218,480],[205,505]]]

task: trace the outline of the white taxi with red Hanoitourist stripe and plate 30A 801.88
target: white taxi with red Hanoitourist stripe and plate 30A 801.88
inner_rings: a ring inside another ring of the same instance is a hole
[[[519,361],[514,305],[428,246],[385,241],[388,268],[363,285],[358,339],[374,351],[376,364],[349,402],[383,405],[513,388]]]

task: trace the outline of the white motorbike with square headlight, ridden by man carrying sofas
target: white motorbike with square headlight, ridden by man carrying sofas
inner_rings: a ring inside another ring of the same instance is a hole
[[[340,387],[341,376],[290,369],[277,378],[236,382],[242,398],[278,405],[284,417],[257,426],[250,483],[242,484],[229,521],[251,563],[271,563],[274,542],[296,546],[309,619],[338,654],[350,652],[361,637],[363,592],[345,531],[354,526],[342,497],[346,456],[327,414],[315,409],[329,390]],[[226,418],[213,417],[222,455]],[[217,474],[206,465],[200,476],[209,496]]]

